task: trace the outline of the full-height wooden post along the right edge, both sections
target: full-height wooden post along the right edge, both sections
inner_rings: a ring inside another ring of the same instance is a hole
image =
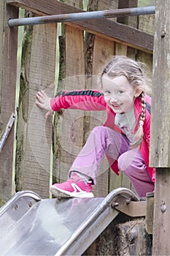
[[[156,167],[153,255],[170,255],[170,1],[157,0],[153,52],[150,165]]]

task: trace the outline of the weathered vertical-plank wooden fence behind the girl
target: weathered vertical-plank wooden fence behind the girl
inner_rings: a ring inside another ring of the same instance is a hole
[[[66,179],[90,130],[103,124],[106,117],[105,113],[64,110],[45,120],[45,112],[35,105],[37,91],[45,89],[52,97],[61,89],[99,89],[98,75],[113,55],[143,61],[152,76],[154,15],[25,27],[20,67],[18,28],[9,29],[7,18],[18,18],[21,7],[27,10],[26,15],[55,15],[82,12],[82,4],[73,0],[0,3],[0,25],[4,28],[0,31],[1,134],[12,111],[17,114],[15,129],[0,154],[2,203],[23,189],[49,197],[50,185]],[[136,0],[88,1],[90,11],[136,6]],[[20,90],[15,105],[18,73]],[[106,196],[116,187],[131,184],[122,174],[115,176],[104,160],[94,194]]]

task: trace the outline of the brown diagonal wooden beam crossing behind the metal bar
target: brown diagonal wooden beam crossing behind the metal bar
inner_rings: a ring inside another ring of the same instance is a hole
[[[61,1],[55,0],[7,0],[7,4],[23,7],[24,9],[38,15],[58,15],[83,11],[77,7],[72,7],[69,4],[64,4]],[[109,19],[80,20],[68,24],[78,26],[80,29],[112,39],[115,42],[120,42],[122,44],[131,46],[132,48],[152,53],[152,34],[139,31],[139,29],[134,29]]]

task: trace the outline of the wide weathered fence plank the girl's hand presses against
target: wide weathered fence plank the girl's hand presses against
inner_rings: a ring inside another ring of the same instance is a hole
[[[34,185],[34,190],[42,197],[49,197],[52,118],[45,120],[45,112],[33,102],[39,89],[45,89],[51,97],[54,94],[56,34],[55,24],[35,26],[31,45],[28,99],[31,110],[28,113],[26,156],[31,146],[30,153],[35,162],[30,165],[32,160],[26,157],[29,168],[25,173],[25,186],[32,189]],[[31,122],[38,116],[39,121]],[[39,143],[36,143],[37,139]]]

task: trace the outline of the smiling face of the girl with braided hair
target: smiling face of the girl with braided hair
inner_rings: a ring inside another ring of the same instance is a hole
[[[131,86],[124,75],[110,78],[102,77],[104,100],[115,113],[128,113],[134,106],[134,99],[142,93],[141,89]]]

